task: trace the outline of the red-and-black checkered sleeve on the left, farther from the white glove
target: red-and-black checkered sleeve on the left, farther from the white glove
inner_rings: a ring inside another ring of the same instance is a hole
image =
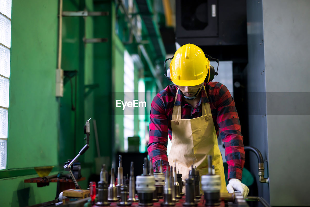
[[[153,159],[153,168],[162,158],[163,170],[169,167],[167,156],[167,142],[168,142],[168,119],[165,111],[164,102],[157,94],[151,104],[150,111],[150,125],[149,125],[150,140],[147,146],[148,156]]]

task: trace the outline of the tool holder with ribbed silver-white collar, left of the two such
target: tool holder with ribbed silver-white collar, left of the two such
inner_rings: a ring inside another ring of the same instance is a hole
[[[153,205],[153,192],[155,191],[155,178],[148,175],[148,159],[144,158],[143,175],[136,177],[136,190],[138,191],[139,205]]]

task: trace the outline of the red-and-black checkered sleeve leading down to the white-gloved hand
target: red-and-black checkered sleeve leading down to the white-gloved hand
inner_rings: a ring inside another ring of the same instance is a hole
[[[217,123],[225,145],[225,158],[228,164],[228,179],[241,180],[245,163],[243,136],[240,121],[230,92],[221,85],[216,95]]]

